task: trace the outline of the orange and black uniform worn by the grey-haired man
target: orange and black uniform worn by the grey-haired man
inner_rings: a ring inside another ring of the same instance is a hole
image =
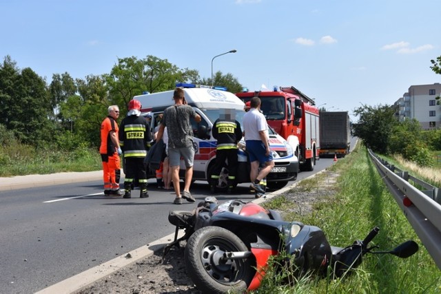
[[[112,116],[107,116],[101,123],[101,145],[99,147],[103,162],[104,195],[121,196],[119,191],[120,159],[116,146],[110,138],[112,132],[118,136],[118,124]]]

